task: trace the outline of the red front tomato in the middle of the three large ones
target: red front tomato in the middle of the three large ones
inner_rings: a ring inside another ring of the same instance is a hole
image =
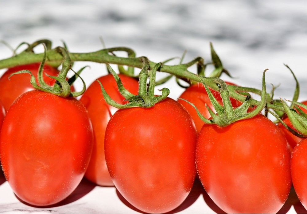
[[[120,109],[107,125],[113,183],[143,212],[169,212],[185,200],[196,175],[195,146],[192,119],[171,98],[152,108]]]

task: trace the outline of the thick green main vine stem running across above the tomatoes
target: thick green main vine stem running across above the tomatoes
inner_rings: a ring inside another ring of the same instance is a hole
[[[117,57],[114,54],[111,54],[115,51],[124,51],[128,53],[128,57]],[[49,49],[45,52],[46,54],[46,63],[58,67],[63,62],[63,55],[59,53],[58,48]],[[130,57],[129,57],[130,56]],[[21,52],[13,57],[6,58],[0,60],[0,69],[9,68],[16,65],[25,65],[29,63],[41,62],[43,60],[44,53],[33,53],[30,52]],[[107,48],[98,50],[90,53],[69,53],[70,60],[72,62],[75,61],[91,61],[97,63],[105,63],[105,64],[116,64],[116,65],[125,65],[132,68],[142,68],[143,67],[143,59],[144,57],[135,57],[135,53],[130,48],[126,47],[115,47],[115,48]],[[149,61],[149,67],[154,68],[157,65],[156,62]],[[204,59],[202,57],[197,57],[192,61],[179,64],[179,65],[162,65],[158,71],[166,72],[170,75],[176,76],[180,79],[186,79],[192,82],[200,82],[199,77],[197,77],[194,73],[188,71],[188,68],[192,65],[198,65],[198,67],[202,67],[204,63]],[[218,85],[216,84],[216,77],[204,77],[200,76],[201,80],[213,90],[219,90]],[[241,102],[244,102],[246,97],[242,94],[236,92],[237,89],[245,90],[261,94],[261,90],[251,89],[246,87],[236,88],[234,86],[227,86],[229,89],[230,97],[235,98]],[[259,105],[259,101],[255,99],[251,99],[251,105]],[[274,109],[278,111],[285,111],[282,105],[275,105],[270,102],[267,103],[267,108]]]

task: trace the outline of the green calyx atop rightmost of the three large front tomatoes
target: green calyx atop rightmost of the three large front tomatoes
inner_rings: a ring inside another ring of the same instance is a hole
[[[242,90],[243,89],[242,87],[236,87],[236,90],[235,90],[236,93],[244,95],[246,97],[246,99],[239,107],[233,108],[233,106],[231,105],[231,101],[229,99],[230,93],[229,93],[229,90],[228,90],[228,86],[222,79],[219,79],[219,78],[215,78],[215,82],[218,84],[218,86],[220,88],[220,96],[222,98],[223,105],[221,105],[216,100],[216,98],[213,96],[211,90],[204,83],[202,78],[199,78],[200,82],[204,85],[204,87],[206,89],[206,92],[208,94],[208,97],[209,97],[214,109],[216,110],[216,113],[214,113],[206,105],[206,107],[207,107],[207,109],[208,109],[208,111],[209,111],[209,113],[212,117],[211,120],[208,120],[207,118],[205,118],[199,112],[199,110],[196,108],[196,106],[193,105],[191,102],[188,102],[187,100],[184,100],[184,99],[182,99],[182,100],[191,104],[196,109],[197,114],[200,117],[200,119],[203,120],[204,123],[207,123],[207,124],[217,124],[220,127],[225,127],[225,126],[227,126],[231,123],[234,123],[235,121],[252,118],[252,117],[256,116],[258,113],[260,113],[262,111],[262,109],[264,109],[264,107],[266,106],[266,101],[267,101],[266,82],[265,82],[265,72],[266,71],[267,71],[267,69],[264,70],[263,75],[262,75],[261,100],[260,100],[259,104],[257,105],[257,107],[250,112],[248,112],[248,109],[251,108],[251,94],[248,93],[249,91]]]

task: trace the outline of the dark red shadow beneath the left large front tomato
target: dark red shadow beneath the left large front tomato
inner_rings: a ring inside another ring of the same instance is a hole
[[[83,178],[80,182],[80,184],[77,186],[77,188],[67,197],[65,198],[63,201],[60,201],[54,205],[49,205],[49,206],[35,206],[35,205],[31,205],[28,204],[25,201],[22,201],[17,195],[15,195],[17,197],[17,199],[19,201],[21,201],[22,203],[29,205],[31,207],[37,207],[37,208],[51,208],[51,207],[59,207],[59,206],[63,206],[63,205],[67,205],[70,204],[74,201],[79,200],[80,198],[84,197],[86,194],[88,194],[89,192],[91,192],[91,190],[93,190],[95,188],[95,184],[88,181],[87,179]]]

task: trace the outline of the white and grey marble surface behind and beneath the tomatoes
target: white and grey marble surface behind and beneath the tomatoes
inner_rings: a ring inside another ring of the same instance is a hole
[[[304,0],[0,0],[0,40],[13,47],[42,38],[51,39],[57,46],[64,40],[72,52],[91,52],[102,48],[101,36],[107,47],[127,46],[137,56],[145,55],[156,62],[181,57],[185,50],[185,61],[201,56],[208,62],[209,42],[213,42],[224,67],[237,77],[238,84],[260,88],[262,72],[268,68],[268,87],[280,83],[276,97],[291,99],[295,82],[283,65],[288,64],[301,83],[299,100],[303,100],[307,99],[306,8]],[[11,54],[0,44],[0,58]],[[76,63],[75,69],[84,65],[91,65],[82,76],[87,85],[106,74],[105,66],[95,63]],[[175,99],[183,90],[175,83],[167,86]],[[292,205],[293,201],[297,199],[290,197],[280,212],[307,212],[299,204]],[[138,211],[115,188],[95,186],[86,180],[55,207],[31,207],[21,203],[0,176],[0,213],[45,212]],[[198,184],[175,212],[219,210]]]

